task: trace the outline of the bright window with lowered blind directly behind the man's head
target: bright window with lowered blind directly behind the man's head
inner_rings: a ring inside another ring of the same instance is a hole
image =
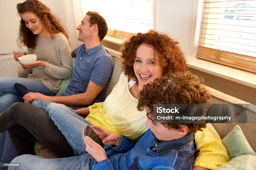
[[[131,33],[153,29],[154,0],[82,0],[84,12],[97,11],[108,24],[108,35],[128,38]],[[88,10],[89,9],[89,10]]]

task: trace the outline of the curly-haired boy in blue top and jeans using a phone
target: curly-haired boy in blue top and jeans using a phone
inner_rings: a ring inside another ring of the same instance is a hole
[[[26,165],[31,168],[32,164],[24,163],[31,161],[50,166],[50,169],[62,166],[68,169],[192,169],[196,159],[194,133],[202,131],[206,124],[154,123],[153,104],[210,103],[210,94],[202,82],[196,75],[184,72],[170,73],[146,84],[139,93],[137,109],[146,109],[146,126],[150,129],[137,143],[100,126],[91,126],[104,144],[111,145],[103,149],[83,135],[89,154],[60,159],[22,155],[12,162],[23,162],[22,168]],[[84,131],[83,127],[82,134]]]

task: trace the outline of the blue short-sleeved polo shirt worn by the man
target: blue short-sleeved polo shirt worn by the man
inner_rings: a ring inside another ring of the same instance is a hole
[[[89,81],[105,87],[95,98],[93,103],[103,102],[106,94],[106,85],[114,70],[114,61],[103,45],[84,50],[84,44],[73,50],[76,56],[73,73],[70,77],[66,91],[62,96],[79,94],[86,92]],[[92,104],[93,104],[92,103]],[[87,106],[72,106],[72,109],[78,109]]]

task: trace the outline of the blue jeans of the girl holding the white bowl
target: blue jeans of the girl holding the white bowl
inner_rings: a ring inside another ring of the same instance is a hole
[[[15,83],[23,84],[29,92],[39,92],[47,96],[56,95],[56,93],[50,91],[44,83],[39,80],[20,77],[2,77],[0,78],[0,113],[5,111],[13,103],[23,100],[23,96],[17,94],[14,87]]]

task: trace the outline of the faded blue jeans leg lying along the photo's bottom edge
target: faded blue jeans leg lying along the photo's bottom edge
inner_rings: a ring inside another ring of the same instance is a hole
[[[89,170],[93,162],[92,156],[87,153],[80,156],[45,159],[35,155],[21,155],[16,157],[12,163],[21,163],[17,167],[8,169],[86,169]]]

